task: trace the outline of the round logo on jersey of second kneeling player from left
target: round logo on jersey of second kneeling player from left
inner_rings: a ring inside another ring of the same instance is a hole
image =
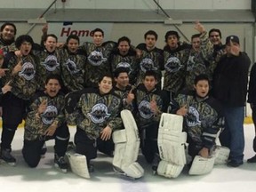
[[[88,113],[88,115],[90,116],[94,124],[103,123],[105,119],[110,116],[110,114],[108,114],[107,106],[103,103],[98,103],[94,105],[92,107],[91,113]]]

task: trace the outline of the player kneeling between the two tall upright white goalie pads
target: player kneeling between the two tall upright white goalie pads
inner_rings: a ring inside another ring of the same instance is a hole
[[[135,120],[140,132],[140,146],[148,164],[152,164],[154,160],[154,164],[152,164],[153,171],[156,171],[157,161],[159,160],[157,148],[158,125],[161,114],[165,111],[164,107],[168,104],[168,100],[162,99],[161,90],[156,87],[156,84],[156,72],[147,71],[143,78],[143,84],[140,84],[135,92]]]

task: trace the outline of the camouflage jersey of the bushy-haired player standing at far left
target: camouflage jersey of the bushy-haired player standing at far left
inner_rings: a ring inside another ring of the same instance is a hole
[[[9,52],[4,60],[4,68],[9,68],[6,76],[3,77],[3,84],[10,82],[12,93],[22,100],[29,100],[36,92],[36,66],[39,58],[33,54],[21,57],[21,71],[12,75],[12,70],[19,63],[18,57],[14,52]]]

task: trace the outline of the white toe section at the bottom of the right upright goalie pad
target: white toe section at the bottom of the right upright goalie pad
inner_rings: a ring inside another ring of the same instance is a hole
[[[184,165],[172,164],[167,161],[160,161],[157,167],[157,174],[167,178],[177,178],[182,172]]]

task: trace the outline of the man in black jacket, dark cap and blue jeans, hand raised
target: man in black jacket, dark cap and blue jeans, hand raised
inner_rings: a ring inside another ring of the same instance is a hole
[[[251,61],[240,52],[237,36],[226,38],[226,52],[214,71],[213,94],[224,108],[226,124],[220,142],[230,148],[228,166],[237,167],[244,158],[244,105]]]

